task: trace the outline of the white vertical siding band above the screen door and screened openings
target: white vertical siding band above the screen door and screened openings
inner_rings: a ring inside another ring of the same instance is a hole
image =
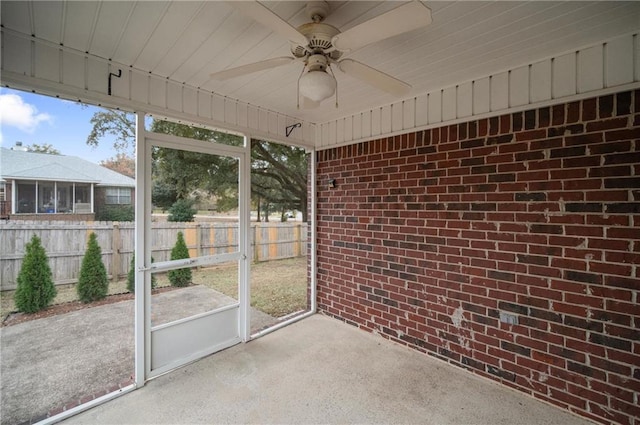
[[[59,14],[50,18],[58,19]],[[97,30],[110,31],[107,28]],[[105,43],[107,45],[111,44]],[[88,46],[79,47],[86,49]],[[105,56],[112,53],[105,51]],[[9,87],[37,87],[43,93],[74,100],[142,110],[153,115],[244,132],[254,137],[286,140],[300,146],[313,147],[316,141],[314,123],[4,29],[0,63],[3,83]],[[109,73],[117,74],[118,71],[122,71],[121,76],[111,77],[109,95]],[[297,122],[302,124],[302,130],[294,131],[287,138],[287,123]],[[333,126],[335,128],[335,124]],[[335,141],[336,136],[334,131],[332,140]]]

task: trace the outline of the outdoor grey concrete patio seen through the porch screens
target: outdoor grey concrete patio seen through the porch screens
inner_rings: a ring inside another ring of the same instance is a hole
[[[236,302],[204,286],[153,296],[152,324]],[[134,373],[133,301],[0,328],[0,425],[43,419],[130,384]],[[272,324],[252,309],[254,329]]]

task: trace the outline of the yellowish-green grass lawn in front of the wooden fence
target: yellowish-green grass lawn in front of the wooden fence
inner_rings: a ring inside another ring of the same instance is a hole
[[[193,284],[204,285],[238,298],[238,268],[223,265],[194,269]],[[157,276],[157,286],[169,286],[165,274]],[[76,285],[58,285],[53,304],[77,301]],[[15,311],[15,291],[0,293],[0,315]],[[126,280],[109,282],[109,295],[127,292]],[[273,317],[282,317],[307,308],[306,257],[265,261],[251,265],[251,306]]]

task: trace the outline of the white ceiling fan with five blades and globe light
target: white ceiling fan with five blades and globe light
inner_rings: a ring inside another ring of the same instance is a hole
[[[368,44],[413,31],[431,23],[431,10],[417,0],[404,3],[344,32],[323,22],[330,12],[329,3],[326,1],[308,2],[306,12],[311,22],[302,24],[298,28],[291,26],[258,1],[233,1],[229,4],[286,37],[291,42],[293,56],[276,57],[226,69],[211,74],[211,78],[222,81],[292,62],[302,62],[304,68],[298,79],[298,104],[302,95],[305,108],[317,107],[320,102],[335,93],[337,83],[332,66],[392,95],[408,94],[411,89],[409,84],[361,62],[340,58],[343,54]]]

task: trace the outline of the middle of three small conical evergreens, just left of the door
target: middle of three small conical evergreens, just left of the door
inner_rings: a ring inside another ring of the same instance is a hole
[[[89,235],[87,251],[82,258],[76,289],[78,298],[83,303],[104,299],[109,291],[107,269],[102,262],[102,250],[98,245],[98,237],[93,232]]]

